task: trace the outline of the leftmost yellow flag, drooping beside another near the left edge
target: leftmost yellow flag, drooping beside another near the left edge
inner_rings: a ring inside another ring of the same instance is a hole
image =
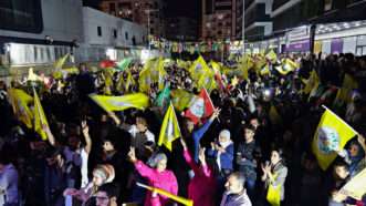
[[[33,101],[33,97],[28,95],[23,90],[9,89],[9,99],[14,114],[23,122],[27,127],[32,127],[33,113],[28,106]]]

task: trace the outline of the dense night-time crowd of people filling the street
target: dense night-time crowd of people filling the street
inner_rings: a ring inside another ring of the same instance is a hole
[[[139,63],[115,72],[112,84],[104,71],[90,72],[86,64],[79,66],[79,74],[50,80],[49,85],[0,82],[0,205],[177,204],[140,185],[192,199],[195,206],[366,205],[366,198],[339,193],[366,166],[366,58],[290,58],[300,66],[286,75],[273,69],[275,62],[266,75],[253,70],[248,79],[222,74],[224,87],[209,91],[211,116],[195,124],[185,111],[176,112],[181,136],[171,151],[157,144],[166,109],[154,104],[161,93],[157,83],[149,86],[150,106],[144,111],[105,112],[88,97],[138,92]],[[171,63],[165,70],[164,83],[171,90],[199,93],[187,69]],[[302,80],[313,71],[320,86],[306,94]],[[345,75],[357,82],[357,90],[349,102],[334,104]],[[128,78],[133,81],[126,86]],[[49,122],[42,125],[45,141],[20,121],[8,96],[9,89],[32,94],[33,87]],[[312,153],[322,105],[358,132],[334,151],[338,155],[327,171]]]

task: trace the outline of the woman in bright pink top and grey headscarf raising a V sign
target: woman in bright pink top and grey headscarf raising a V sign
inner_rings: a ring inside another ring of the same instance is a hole
[[[158,153],[151,161],[151,167],[145,165],[142,161],[136,158],[135,148],[132,147],[128,157],[134,163],[136,171],[145,178],[147,178],[149,186],[160,188],[171,193],[178,194],[178,183],[175,174],[167,168],[168,158],[164,153]],[[165,206],[168,198],[155,193],[148,192],[145,198],[145,206]]]

